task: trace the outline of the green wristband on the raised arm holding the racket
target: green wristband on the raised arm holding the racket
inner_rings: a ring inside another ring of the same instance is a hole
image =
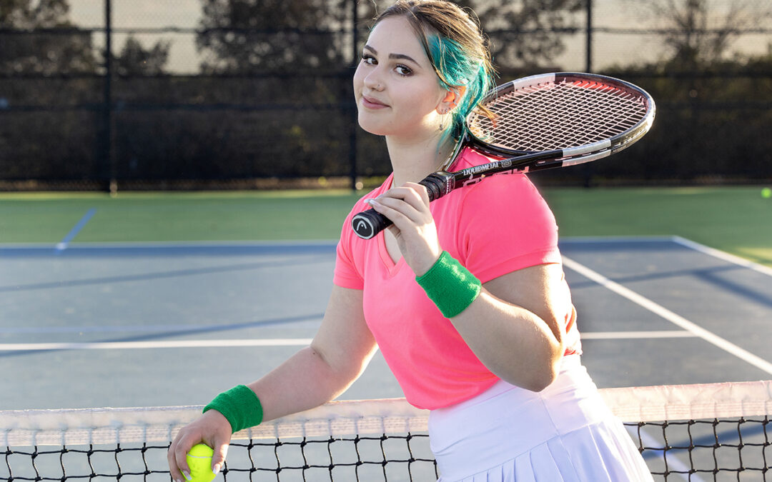
[[[480,294],[482,283],[453,258],[442,251],[429,271],[415,281],[424,288],[429,299],[437,305],[442,316],[453,318],[464,311]]]

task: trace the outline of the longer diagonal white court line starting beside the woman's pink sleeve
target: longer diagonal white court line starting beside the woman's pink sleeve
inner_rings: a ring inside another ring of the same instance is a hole
[[[658,305],[657,303],[652,302],[652,300],[645,298],[642,295],[638,295],[638,293],[632,291],[631,289],[625,288],[624,286],[616,283],[615,281],[611,281],[610,279],[604,277],[600,273],[593,271],[590,268],[587,268],[586,266],[577,263],[577,261],[574,261],[571,258],[566,258],[564,256],[563,263],[568,268],[571,268],[572,270],[577,271],[577,273],[584,276],[585,278],[589,278],[592,281],[595,281],[596,283],[598,283],[598,285],[601,285],[604,288],[608,288],[612,292],[615,292],[617,295],[620,295],[623,298],[627,298],[631,302],[634,302],[636,305],[640,305],[643,308],[648,309],[648,311],[655,313],[655,315],[659,315],[662,318],[671,322],[672,324],[677,325],[682,329],[685,329],[687,332],[690,332],[693,335],[698,336],[699,338],[705,340],[706,342],[716,345],[720,349],[723,349],[725,352],[728,352],[731,355],[736,356],[737,358],[750,363],[751,365],[755,366],[757,369],[760,369],[760,370],[763,370],[764,372],[772,374],[772,363],[767,362],[767,360],[753,355],[753,353],[740,348],[734,343],[721,338],[719,335],[716,335],[713,332],[709,332],[703,327],[696,325],[693,322],[690,322],[688,319],[682,317],[681,315],[676,315],[674,312],[671,312],[669,309],[665,308],[664,306]]]

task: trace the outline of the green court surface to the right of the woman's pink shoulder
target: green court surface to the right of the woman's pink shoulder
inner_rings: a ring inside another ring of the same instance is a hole
[[[772,199],[761,187],[545,190],[561,236],[681,236],[772,266]]]

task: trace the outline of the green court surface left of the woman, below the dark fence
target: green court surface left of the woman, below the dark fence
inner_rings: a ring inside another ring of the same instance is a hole
[[[334,239],[357,199],[347,191],[0,194],[0,242]]]

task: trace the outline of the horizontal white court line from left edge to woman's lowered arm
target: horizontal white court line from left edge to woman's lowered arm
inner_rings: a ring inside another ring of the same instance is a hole
[[[46,350],[113,350],[148,348],[220,348],[234,346],[306,346],[310,338],[178,340],[164,342],[0,343],[0,352]]]

